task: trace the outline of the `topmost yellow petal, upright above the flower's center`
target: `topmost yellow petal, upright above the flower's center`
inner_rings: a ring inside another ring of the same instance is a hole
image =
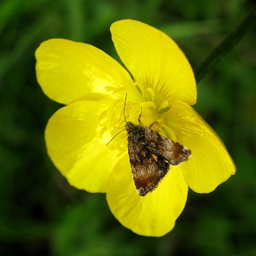
[[[110,30],[115,49],[135,80],[145,88],[151,84],[168,92],[168,102],[195,104],[194,73],[171,38],[136,20],[116,21]]]

